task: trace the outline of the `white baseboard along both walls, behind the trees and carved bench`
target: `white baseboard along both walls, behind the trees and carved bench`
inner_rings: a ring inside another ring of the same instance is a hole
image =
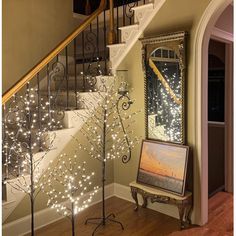
[[[98,191],[98,194],[95,195],[93,201],[90,206],[95,205],[101,202],[101,188]],[[130,188],[125,185],[121,185],[118,183],[112,183],[105,187],[106,199],[116,196],[118,198],[124,199],[129,202],[133,202],[134,200],[130,194]],[[139,203],[142,204],[142,199],[139,196]],[[178,218],[178,210],[175,206],[165,205],[165,204],[148,204],[148,208],[158,211],[160,213],[169,215],[174,218]],[[10,222],[8,224],[3,225],[2,227],[2,235],[3,236],[23,236],[30,232],[30,215],[20,218],[16,221]],[[52,224],[60,219],[63,216],[57,214],[55,210],[51,208],[47,208],[35,213],[35,230],[43,228],[49,224]]]

